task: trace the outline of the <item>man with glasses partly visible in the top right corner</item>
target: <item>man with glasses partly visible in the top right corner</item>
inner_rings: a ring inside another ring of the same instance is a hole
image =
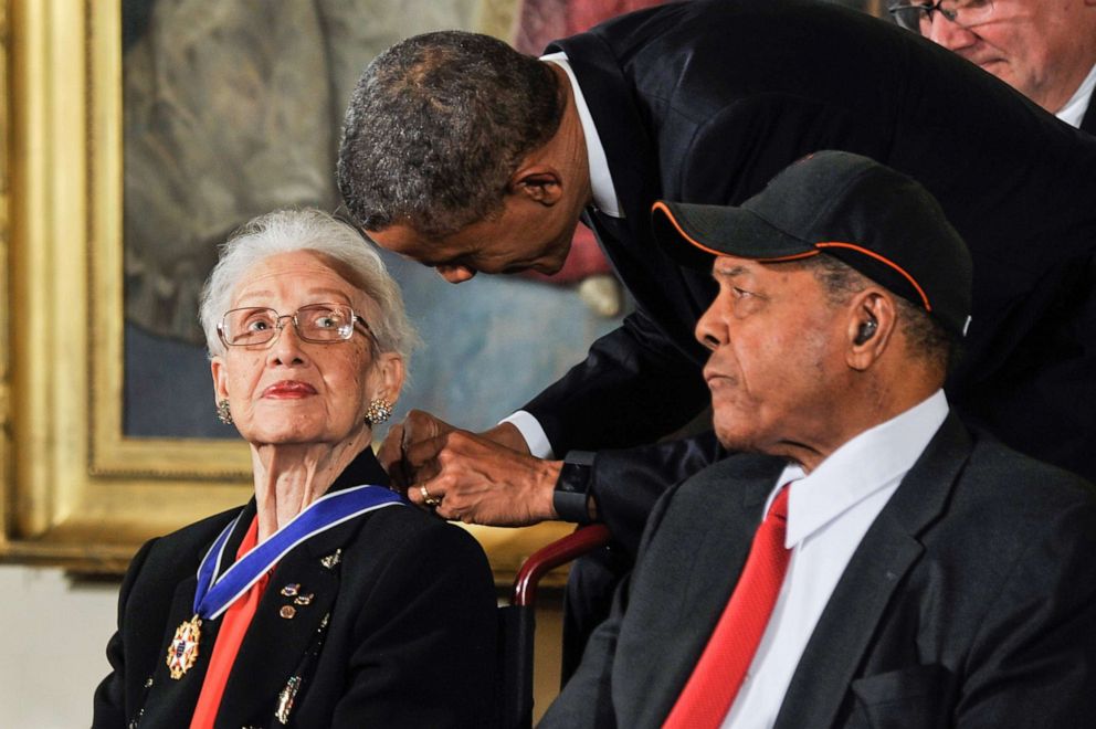
[[[1096,0],[898,2],[888,11],[1063,122],[1096,133]]]

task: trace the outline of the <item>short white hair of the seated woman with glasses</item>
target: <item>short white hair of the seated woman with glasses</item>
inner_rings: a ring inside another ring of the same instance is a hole
[[[397,352],[410,367],[419,337],[408,320],[400,287],[384,262],[351,225],[305,208],[276,210],[252,219],[221,245],[221,257],[202,288],[200,318],[210,356],[223,355],[217,325],[232,305],[232,294],[255,264],[281,253],[314,251],[336,272],[377,303],[369,329],[383,352]]]

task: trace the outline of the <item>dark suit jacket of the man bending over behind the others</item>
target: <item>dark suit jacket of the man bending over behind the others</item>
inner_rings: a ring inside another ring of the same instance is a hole
[[[548,50],[567,53],[605,147],[626,218],[589,222],[637,306],[526,405],[557,454],[651,443],[708,402],[693,329],[715,288],[657,249],[652,202],[737,204],[831,148],[919,180],[971,249],[973,324],[951,402],[1013,447],[1096,476],[1096,409],[1078,406],[1096,402],[1096,140],[947,50],[831,3],[697,0]],[[649,511],[657,486],[634,503],[633,466],[599,467],[602,513]],[[631,528],[637,541],[642,522]]]

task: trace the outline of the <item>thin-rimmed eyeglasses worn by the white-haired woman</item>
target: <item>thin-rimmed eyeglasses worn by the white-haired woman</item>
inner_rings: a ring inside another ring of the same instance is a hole
[[[366,320],[342,304],[309,304],[293,314],[278,314],[261,306],[232,309],[221,317],[217,334],[229,347],[255,347],[276,339],[285,326],[284,319],[293,321],[303,341],[316,345],[346,341],[354,336],[357,324],[372,335]]]

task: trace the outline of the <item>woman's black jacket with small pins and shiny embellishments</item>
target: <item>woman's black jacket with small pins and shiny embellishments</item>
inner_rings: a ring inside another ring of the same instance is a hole
[[[367,450],[333,488],[382,483]],[[140,727],[189,726],[222,620],[202,623],[198,661],[179,680],[168,675],[168,644],[193,614],[199,562],[239,513],[155,539],[134,558],[118,600],[118,632],[107,646],[113,673],[95,694],[95,727],[134,718]],[[235,558],[254,514],[252,499],[226,559]],[[320,560],[338,550],[340,561],[328,569]],[[292,620],[280,616],[293,603],[281,594],[288,583],[315,595]],[[282,726],[274,715],[291,676],[304,679],[291,726],[491,726],[496,625],[491,570],[471,535],[408,506],[368,513],[302,543],[275,567],[217,726]]]

